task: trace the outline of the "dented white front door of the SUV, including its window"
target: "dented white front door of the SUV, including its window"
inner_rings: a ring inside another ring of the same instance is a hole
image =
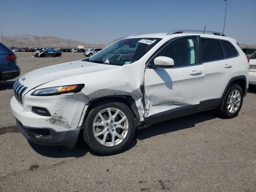
[[[204,80],[204,69],[198,59],[198,38],[192,36],[174,40],[148,63],[144,78],[145,118],[179,109],[190,108],[190,113],[191,109],[197,110]],[[172,58],[174,67],[150,68],[157,56]]]

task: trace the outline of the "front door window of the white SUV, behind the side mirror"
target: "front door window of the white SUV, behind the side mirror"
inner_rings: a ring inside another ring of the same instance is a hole
[[[179,38],[170,42],[160,52],[158,56],[166,56],[174,60],[174,66],[186,66],[197,64],[198,62],[198,40],[197,37]],[[154,64],[154,59],[150,62]]]

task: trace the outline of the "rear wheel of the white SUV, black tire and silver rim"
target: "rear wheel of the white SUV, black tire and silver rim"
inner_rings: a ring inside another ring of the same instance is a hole
[[[237,91],[237,95],[240,94],[240,104],[237,107],[238,104],[238,100],[239,100],[239,96],[235,95],[235,92]],[[234,93],[234,96],[232,96],[231,94]],[[237,96],[237,99],[235,98]],[[233,98],[233,101],[232,99]],[[224,98],[222,99],[222,102],[218,108],[218,114],[223,117],[223,118],[234,118],[238,115],[242,104],[243,104],[243,98],[244,98],[244,93],[242,91],[242,88],[240,87],[240,85],[238,84],[231,84],[230,87],[228,88]],[[232,101],[230,104],[228,104],[228,102]],[[233,107],[232,103],[234,103]],[[230,110],[234,108],[234,110],[232,110],[232,112],[230,112]]]

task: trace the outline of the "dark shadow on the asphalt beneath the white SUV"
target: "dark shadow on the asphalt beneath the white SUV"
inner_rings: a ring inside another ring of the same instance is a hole
[[[123,151],[119,152],[118,154],[124,153],[131,148],[135,147],[138,140],[144,140],[147,138],[151,138],[157,135],[163,135],[166,133],[182,130],[182,129],[188,129],[188,128],[194,128],[196,124],[205,122],[207,120],[212,120],[215,118],[219,118],[216,113],[213,110],[210,111],[204,111],[199,112],[196,114],[167,120],[164,122],[156,123],[151,125],[148,128],[142,129],[142,130],[136,130],[134,138],[132,142],[129,144],[129,146],[124,149]],[[70,150],[65,147],[61,146],[45,146],[40,144],[34,144],[32,142],[29,142],[30,146],[42,156],[50,157],[50,158],[66,158],[66,157],[82,157],[88,152],[94,156],[110,156],[110,155],[103,155],[98,154],[94,151],[92,151],[84,142],[82,132],[80,132],[78,136],[78,141],[76,143],[76,146],[74,150]]]

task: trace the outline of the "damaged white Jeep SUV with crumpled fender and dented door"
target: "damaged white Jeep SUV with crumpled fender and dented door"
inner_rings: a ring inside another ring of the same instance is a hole
[[[237,116],[248,60],[236,40],[200,32],[132,35],[85,60],[25,74],[11,99],[19,130],[68,148],[81,131],[92,150],[114,154],[136,128],[210,109]]]

